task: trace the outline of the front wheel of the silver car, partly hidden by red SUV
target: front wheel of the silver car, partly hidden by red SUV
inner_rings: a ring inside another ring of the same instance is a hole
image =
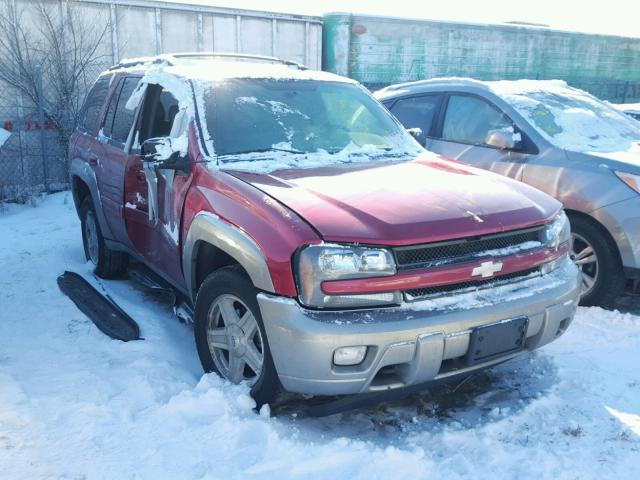
[[[572,216],[571,258],[582,272],[580,305],[613,307],[624,289],[624,273],[616,246],[602,227]]]

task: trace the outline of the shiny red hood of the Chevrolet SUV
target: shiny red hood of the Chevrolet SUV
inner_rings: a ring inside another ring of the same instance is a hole
[[[296,212],[325,241],[437,242],[539,225],[561,207],[528,185],[430,154],[409,162],[228,173]]]

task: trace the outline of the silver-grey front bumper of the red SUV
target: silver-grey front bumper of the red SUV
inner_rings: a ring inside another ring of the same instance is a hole
[[[472,329],[504,319],[527,316],[523,351],[536,349],[566,330],[579,295],[580,274],[567,259],[542,277],[393,309],[319,312],[264,293],[258,302],[283,387],[340,395],[417,385],[512,358],[522,352],[464,361]],[[337,348],[357,345],[368,346],[361,364],[333,364]]]

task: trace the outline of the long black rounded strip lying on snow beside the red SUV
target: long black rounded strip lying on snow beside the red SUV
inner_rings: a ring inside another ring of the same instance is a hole
[[[136,321],[82,276],[64,272],[58,277],[58,287],[105,335],[125,342],[140,339]]]

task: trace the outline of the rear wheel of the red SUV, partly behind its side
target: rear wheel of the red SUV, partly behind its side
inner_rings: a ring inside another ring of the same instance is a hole
[[[96,210],[90,197],[86,197],[80,206],[82,244],[87,260],[95,267],[95,273],[101,278],[121,276],[127,270],[128,256],[107,248],[100,230]]]

